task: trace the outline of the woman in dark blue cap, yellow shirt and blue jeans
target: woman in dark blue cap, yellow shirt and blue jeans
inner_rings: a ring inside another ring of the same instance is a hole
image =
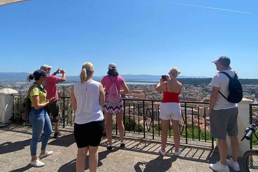
[[[31,161],[30,165],[34,167],[42,167],[45,164],[40,161],[40,159],[49,156],[53,151],[46,151],[46,146],[49,140],[49,137],[52,133],[51,121],[46,112],[46,105],[54,103],[55,97],[52,97],[49,100],[46,100],[46,91],[41,85],[43,82],[46,82],[47,72],[44,70],[36,70],[33,74],[30,74],[27,79],[29,81],[35,80],[35,82],[30,86],[34,87],[29,89],[30,91],[30,101],[31,101],[31,111],[29,116],[29,121],[32,125],[32,139],[30,142],[30,154]],[[44,136],[41,142],[41,153],[39,158],[37,158],[37,145],[39,138],[41,136],[42,130],[44,131]]]

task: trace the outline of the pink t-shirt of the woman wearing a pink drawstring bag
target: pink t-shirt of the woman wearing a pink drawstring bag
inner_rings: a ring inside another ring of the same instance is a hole
[[[118,91],[118,93],[120,93],[120,87],[121,87],[122,83],[125,81],[123,79],[123,77],[122,76],[111,76],[111,75],[104,76],[101,80],[101,83],[104,84],[104,86],[106,88],[106,93],[108,93],[109,87],[113,83],[108,76],[112,79],[113,82],[115,81],[117,91]],[[116,77],[117,77],[117,79],[115,80]]]

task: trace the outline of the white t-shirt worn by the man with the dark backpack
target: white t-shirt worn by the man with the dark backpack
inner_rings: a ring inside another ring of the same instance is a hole
[[[231,77],[233,77],[235,75],[233,70],[224,70],[223,72],[227,72]],[[237,73],[237,77],[238,77],[238,73]],[[225,75],[224,73],[216,73],[213,76],[213,78],[210,82],[210,85],[219,87],[219,91],[225,97],[228,97],[228,95],[229,95],[229,91],[228,91],[229,78],[227,77],[227,75]],[[236,103],[228,102],[228,100],[226,100],[224,97],[221,96],[220,93],[218,93],[217,101],[213,107],[214,110],[230,109],[230,108],[234,108],[234,107],[238,107],[238,105]]]

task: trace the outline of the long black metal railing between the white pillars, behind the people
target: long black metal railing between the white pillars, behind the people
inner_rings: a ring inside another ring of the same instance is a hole
[[[13,121],[23,121],[18,111],[18,106],[23,95],[13,96]],[[59,97],[59,124],[65,126],[74,125],[74,114],[70,97]],[[138,139],[159,140],[162,132],[159,119],[161,100],[147,99],[123,99],[124,135]],[[208,102],[181,101],[182,118],[179,128],[181,143],[207,146],[214,149],[214,139],[210,137]],[[201,120],[202,119],[202,120]],[[118,127],[114,122],[113,131],[118,135]],[[173,131],[169,122],[168,142],[173,142]]]

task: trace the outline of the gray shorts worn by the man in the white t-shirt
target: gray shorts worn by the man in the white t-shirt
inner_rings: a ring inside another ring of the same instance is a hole
[[[210,113],[210,135],[217,139],[226,139],[238,135],[238,107],[212,110]]]

